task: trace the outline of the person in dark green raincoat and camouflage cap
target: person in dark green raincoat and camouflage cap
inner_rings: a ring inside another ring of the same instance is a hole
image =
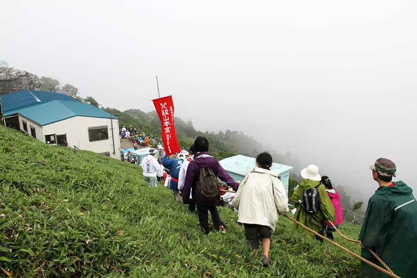
[[[403,181],[392,182],[396,166],[379,158],[371,167],[379,188],[369,199],[359,240],[362,256],[381,266],[368,251],[373,250],[401,278],[417,277],[417,202],[413,189]],[[362,278],[388,278],[362,263]]]

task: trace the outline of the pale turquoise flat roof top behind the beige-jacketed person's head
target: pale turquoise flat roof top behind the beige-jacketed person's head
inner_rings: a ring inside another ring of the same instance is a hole
[[[227,172],[235,173],[244,177],[252,168],[256,166],[256,159],[254,157],[239,154],[222,159],[219,163]],[[275,162],[271,167],[271,171],[277,173],[278,175],[289,172],[291,169],[291,166]]]

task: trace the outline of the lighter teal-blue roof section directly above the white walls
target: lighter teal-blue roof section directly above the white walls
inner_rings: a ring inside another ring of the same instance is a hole
[[[13,110],[41,126],[46,126],[75,116],[117,119],[117,117],[91,104],[78,101],[49,101]]]

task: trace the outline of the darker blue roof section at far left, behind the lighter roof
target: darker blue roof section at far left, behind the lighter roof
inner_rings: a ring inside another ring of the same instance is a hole
[[[29,91],[21,90],[17,92],[11,92],[10,94],[0,97],[1,99],[1,111],[4,116],[13,115],[9,111],[16,110],[18,108],[27,107],[30,105],[36,105],[49,101],[76,101],[77,100],[64,95],[44,91]],[[16,114],[16,113],[14,113]]]

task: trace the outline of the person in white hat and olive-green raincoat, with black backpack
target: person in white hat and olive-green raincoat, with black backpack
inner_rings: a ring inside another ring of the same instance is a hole
[[[294,203],[294,218],[305,226],[324,234],[324,221],[335,221],[335,208],[321,183],[318,167],[310,165],[301,171],[304,179],[294,190],[291,200]],[[316,236],[316,239],[323,241]]]

